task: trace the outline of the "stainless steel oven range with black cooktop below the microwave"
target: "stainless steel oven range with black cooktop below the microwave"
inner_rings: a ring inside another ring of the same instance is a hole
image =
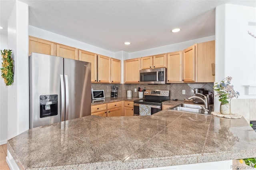
[[[169,90],[146,90],[144,98],[134,100],[134,114],[140,115],[140,105],[149,105],[151,107],[151,115],[162,110],[162,102],[170,100]]]

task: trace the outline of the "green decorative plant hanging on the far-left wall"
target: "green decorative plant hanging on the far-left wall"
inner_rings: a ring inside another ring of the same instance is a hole
[[[4,79],[6,85],[12,85],[13,83],[13,60],[12,60],[12,50],[4,49],[1,50],[2,55],[2,68],[1,76]]]

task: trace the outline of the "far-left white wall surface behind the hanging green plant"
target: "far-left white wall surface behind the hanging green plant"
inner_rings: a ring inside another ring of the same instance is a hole
[[[8,38],[6,35],[0,34],[0,47],[1,50],[8,49]],[[1,67],[2,61],[0,62]],[[2,77],[0,77],[0,145],[5,144],[7,141],[7,94],[7,86]]]

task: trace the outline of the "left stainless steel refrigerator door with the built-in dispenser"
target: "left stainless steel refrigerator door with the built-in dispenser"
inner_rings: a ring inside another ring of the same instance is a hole
[[[40,53],[29,56],[30,128],[60,122],[63,70],[62,57]]]

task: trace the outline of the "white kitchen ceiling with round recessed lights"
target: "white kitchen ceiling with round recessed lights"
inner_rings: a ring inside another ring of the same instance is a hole
[[[135,52],[215,35],[215,7],[256,0],[20,0],[29,25],[109,51]],[[1,24],[13,0],[0,0]],[[7,22],[6,22],[7,23]],[[171,33],[172,28],[181,28]],[[1,31],[1,34],[4,30]],[[129,41],[131,45],[124,45]]]

